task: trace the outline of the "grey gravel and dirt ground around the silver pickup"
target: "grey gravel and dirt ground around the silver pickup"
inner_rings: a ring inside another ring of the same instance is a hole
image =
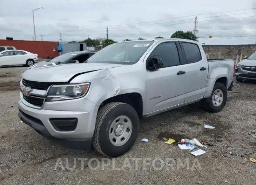
[[[208,113],[194,104],[142,120],[132,150],[108,161],[93,149],[83,153],[56,146],[20,123],[18,89],[25,69],[0,68],[1,184],[255,184],[256,163],[249,158],[256,158],[256,140],[248,134],[256,130],[255,83],[237,82],[234,92],[241,93],[230,93],[220,113]],[[196,138],[208,148],[195,157],[177,148],[177,143],[165,144],[163,137]],[[142,138],[148,142],[141,142]],[[243,153],[234,156],[230,151]],[[88,160],[82,165],[74,158]],[[100,163],[102,159],[108,166]]]

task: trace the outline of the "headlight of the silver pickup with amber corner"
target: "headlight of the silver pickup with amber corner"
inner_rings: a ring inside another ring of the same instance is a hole
[[[83,84],[53,85],[50,87],[45,101],[52,102],[81,98],[86,95],[89,87],[89,82]]]

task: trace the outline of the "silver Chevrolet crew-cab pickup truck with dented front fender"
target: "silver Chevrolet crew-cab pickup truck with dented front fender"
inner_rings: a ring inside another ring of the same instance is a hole
[[[134,145],[140,118],[198,101],[221,111],[234,75],[233,60],[208,62],[198,42],[120,42],[82,64],[27,70],[19,117],[63,147],[117,157]]]

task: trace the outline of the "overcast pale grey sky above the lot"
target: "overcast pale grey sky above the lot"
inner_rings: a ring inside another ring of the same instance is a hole
[[[36,40],[43,35],[59,41],[60,32],[64,41],[103,38],[107,27],[116,41],[169,38],[177,30],[192,31],[198,14],[196,36],[207,37],[201,44],[208,45],[208,35],[210,45],[256,42],[256,0],[0,0],[0,39],[33,40],[32,9],[39,7],[44,9],[34,13]]]

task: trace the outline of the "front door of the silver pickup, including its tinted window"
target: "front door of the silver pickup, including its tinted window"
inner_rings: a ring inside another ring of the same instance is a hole
[[[185,71],[185,66],[181,65],[182,52],[178,42],[165,41],[151,50],[149,57],[163,61],[163,68],[146,73],[148,113],[157,113],[184,103],[186,73],[179,73]]]

